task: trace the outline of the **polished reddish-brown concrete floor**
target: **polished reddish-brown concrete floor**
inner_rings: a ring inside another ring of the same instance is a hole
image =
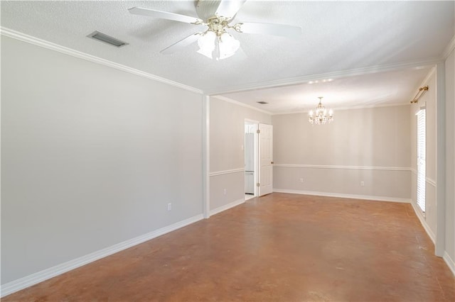
[[[455,301],[405,203],[270,194],[1,301]]]

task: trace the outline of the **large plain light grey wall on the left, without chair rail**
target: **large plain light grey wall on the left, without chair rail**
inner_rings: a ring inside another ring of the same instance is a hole
[[[2,36],[2,284],[202,217],[202,101]]]

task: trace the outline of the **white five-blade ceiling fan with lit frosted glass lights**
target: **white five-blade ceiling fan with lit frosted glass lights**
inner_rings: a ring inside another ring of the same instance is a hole
[[[230,25],[237,12],[247,0],[198,0],[196,13],[199,18],[133,7],[130,13],[141,16],[163,18],[183,23],[207,26],[203,32],[193,33],[188,37],[161,50],[163,54],[171,54],[198,41],[200,49],[198,52],[210,59],[223,60],[235,54],[240,47],[240,42],[228,33],[228,30],[235,30],[237,33],[259,33],[267,35],[281,35],[293,38],[301,34],[301,28],[284,24],[270,23],[235,23]]]

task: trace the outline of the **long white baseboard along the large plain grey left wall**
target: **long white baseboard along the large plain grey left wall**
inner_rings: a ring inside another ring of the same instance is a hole
[[[159,237],[166,233],[172,232],[173,230],[183,228],[184,226],[190,225],[191,223],[196,223],[196,221],[199,221],[199,220],[203,220],[203,214],[193,216],[186,220],[181,220],[178,223],[173,223],[172,225],[168,225],[164,228],[160,228],[160,229],[154,230],[150,233],[146,233],[144,235],[134,237],[130,240],[126,240],[124,242],[117,243],[117,245],[112,245],[110,247],[106,247],[105,249],[99,250],[97,252],[92,252],[88,255],[70,260],[68,262],[64,262],[62,264],[58,264],[55,267],[50,267],[48,269],[44,269],[41,272],[36,272],[35,274],[31,274],[31,275],[25,276],[21,279],[11,281],[11,282],[6,283],[1,286],[0,296],[1,297],[7,296],[10,293],[20,291],[21,289],[25,289],[28,286],[38,284],[42,281],[53,278],[54,276],[58,276],[65,272],[69,272],[72,269],[76,269],[77,267],[82,267],[82,265],[88,264],[90,262],[94,262],[98,259],[107,257],[116,252],[126,250],[127,248],[133,247],[134,245],[139,245],[142,242],[146,242],[155,237]]]

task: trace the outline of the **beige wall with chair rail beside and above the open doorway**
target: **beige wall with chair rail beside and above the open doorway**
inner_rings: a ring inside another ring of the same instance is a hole
[[[267,113],[210,98],[210,211],[245,198],[245,172],[230,172],[245,168],[245,118],[271,123]]]

